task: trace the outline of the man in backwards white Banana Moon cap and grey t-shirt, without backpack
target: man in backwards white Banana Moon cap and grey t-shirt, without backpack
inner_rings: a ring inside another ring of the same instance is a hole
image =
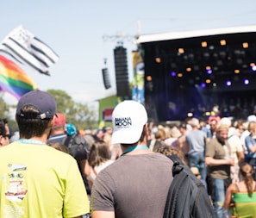
[[[94,181],[92,217],[163,217],[173,163],[147,146],[145,107],[132,100],[119,103],[113,111],[112,124],[112,144],[121,145],[122,156]]]

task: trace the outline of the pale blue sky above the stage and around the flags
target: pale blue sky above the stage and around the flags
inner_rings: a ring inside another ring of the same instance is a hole
[[[113,50],[117,41],[103,36],[134,36],[204,28],[225,28],[256,24],[256,1],[86,1],[23,0],[3,1],[0,13],[0,40],[19,26],[27,28],[59,54],[50,68],[51,76],[21,65],[41,90],[58,89],[77,102],[89,103],[116,93]],[[140,23],[140,28],[137,28]],[[128,72],[132,79],[130,37]],[[103,59],[107,59],[111,89],[103,86]],[[16,99],[5,94],[9,102]]]

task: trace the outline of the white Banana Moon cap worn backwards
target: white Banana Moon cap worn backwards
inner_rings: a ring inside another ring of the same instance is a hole
[[[140,140],[147,111],[141,103],[126,100],[119,103],[112,113],[112,144],[133,144]]]

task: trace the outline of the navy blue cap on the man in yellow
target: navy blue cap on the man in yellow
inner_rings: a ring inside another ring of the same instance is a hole
[[[27,117],[22,113],[25,106],[33,105],[39,110],[39,115]],[[16,115],[30,119],[51,119],[56,114],[57,105],[55,99],[45,91],[32,90],[21,97],[18,102]]]

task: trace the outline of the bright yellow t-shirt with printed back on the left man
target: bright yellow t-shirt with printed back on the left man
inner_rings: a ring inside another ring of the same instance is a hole
[[[78,164],[51,146],[13,142],[0,149],[0,217],[59,218],[89,213]]]

